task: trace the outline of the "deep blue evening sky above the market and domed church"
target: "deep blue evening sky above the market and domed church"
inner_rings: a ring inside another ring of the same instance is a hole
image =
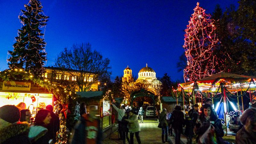
[[[173,80],[183,80],[176,63],[184,49],[184,29],[197,1],[194,0],[42,0],[49,16],[45,30],[46,66],[54,65],[57,54],[72,44],[91,43],[111,60],[112,76],[122,76],[129,65],[138,77],[140,68],[148,66],[157,77],[168,73]],[[198,0],[206,13],[216,4],[223,10],[237,0]],[[8,68],[7,51],[21,24],[20,9],[28,0],[0,0],[0,70]]]

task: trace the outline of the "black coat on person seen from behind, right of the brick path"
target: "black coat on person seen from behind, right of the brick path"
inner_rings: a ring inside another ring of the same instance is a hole
[[[182,125],[185,123],[183,112],[174,110],[170,120],[172,121],[172,128],[182,131]]]

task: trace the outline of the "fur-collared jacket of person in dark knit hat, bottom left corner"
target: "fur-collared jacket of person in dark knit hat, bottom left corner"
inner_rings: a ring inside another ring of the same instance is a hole
[[[27,122],[8,123],[0,119],[0,144],[30,144]]]

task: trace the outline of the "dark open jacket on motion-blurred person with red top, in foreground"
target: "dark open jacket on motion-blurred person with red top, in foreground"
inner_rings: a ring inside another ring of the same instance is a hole
[[[97,125],[97,127],[90,124]],[[93,133],[93,137],[90,133]],[[96,132],[96,134],[95,134]],[[95,135],[94,135],[95,134]],[[73,132],[70,144],[93,144],[87,142],[87,139],[93,139],[96,144],[102,143],[102,131],[100,129],[100,120],[94,119],[93,122],[89,120],[89,114],[82,115],[81,121],[78,121]]]

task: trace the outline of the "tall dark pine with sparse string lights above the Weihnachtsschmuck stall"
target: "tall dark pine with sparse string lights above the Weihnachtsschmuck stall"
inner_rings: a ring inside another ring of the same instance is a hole
[[[40,28],[45,28],[49,17],[44,14],[39,0],[30,0],[24,7],[26,11],[21,10],[19,16],[22,27],[18,29],[13,51],[8,51],[11,55],[8,65],[12,69],[25,67],[35,76],[42,76],[47,53],[44,31],[42,33]]]

